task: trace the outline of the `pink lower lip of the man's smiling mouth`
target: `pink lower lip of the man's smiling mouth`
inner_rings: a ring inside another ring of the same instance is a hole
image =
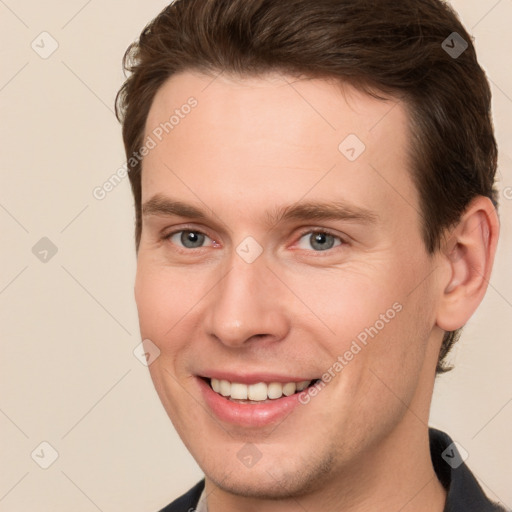
[[[215,393],[210,385],[197,377],[203,397],[220,420],[244,427],[263,427],[282,421],[290,414],[299,402],[299,393],[283,396],[261,404],[244,404],[232,402],[228,398]]]

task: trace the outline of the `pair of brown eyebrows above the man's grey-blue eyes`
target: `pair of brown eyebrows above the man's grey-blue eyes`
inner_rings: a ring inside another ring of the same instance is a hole
[[[209,215],[206,210],[156,194],[142,205],[144,217],[156,215],[161,217],[187,217],[193,220],[206,221]],[[290,220],[345,220],[360,224],[376,224],[379,216],[367,208],[358,207],[345,201],[299,202],[289,206],[276,207],[264,212],[266,224],[276,224]]]

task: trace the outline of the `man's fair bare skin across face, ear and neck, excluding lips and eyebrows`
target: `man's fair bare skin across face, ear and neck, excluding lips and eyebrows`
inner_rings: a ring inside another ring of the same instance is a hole
[[[142,203],[158,194],[207,218],[144,216],[135,297],[142,337],[161,351],[151,377],[206,475],[209,512],[442,511],[427,427],[435,366],[444,330],[484,296],[498,236],[491,202],[476,198],[429,255],[402,103],[319,79],[184,72],[157,92],[146,136],[190,96],[198,106],[144,159]],[[354,162],[338,149],[348,134],[366,145]],[[304,201],[344,201],[375,221],[269,227],[266,211]],[[165,238],[180,229],[206,234],[202,247]],[[322,230],[330,249],[312,243]],[[264,249],[250,264],[236,252],[248,236]],[[225,423],[199,392],[196,376],[211,369],[321,377],[396,303],[281,422]],[[261,453],[250,468],[237,457],[246,443]]]

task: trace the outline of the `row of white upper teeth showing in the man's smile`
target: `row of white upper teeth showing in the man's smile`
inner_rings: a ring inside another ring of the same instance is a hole
[[[216,393],[222,396],[230,396],[236,400],[254,400],[263,401],[267,398],[281,398],[293,395],[296,391],[306,389],[310,380],[301,382],[258,382],[257,384],[241,384],[239,382],[229,382],[228,380],[211,379],[212,388]]]

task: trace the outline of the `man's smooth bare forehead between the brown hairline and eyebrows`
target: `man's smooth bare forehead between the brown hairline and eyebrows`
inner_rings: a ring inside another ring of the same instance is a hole
[[[148,137],[143,202],[178,193],[247,210],[336,196],[390,216],[418,203],[405,106],[339,82],[184,72],[158,90]]]

